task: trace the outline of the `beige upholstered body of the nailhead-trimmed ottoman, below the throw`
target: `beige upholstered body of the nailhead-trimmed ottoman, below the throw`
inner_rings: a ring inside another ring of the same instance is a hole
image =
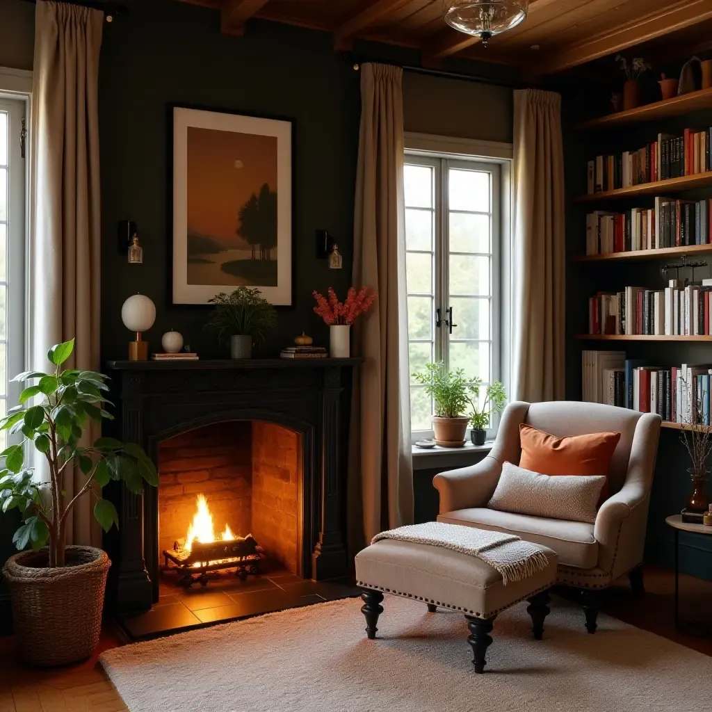
[[[358,585],[491,618],[556,580],[557,555],[542,547],[549,565],[506,586],[477,557],[436,546],[383,539],[356,555]]]

